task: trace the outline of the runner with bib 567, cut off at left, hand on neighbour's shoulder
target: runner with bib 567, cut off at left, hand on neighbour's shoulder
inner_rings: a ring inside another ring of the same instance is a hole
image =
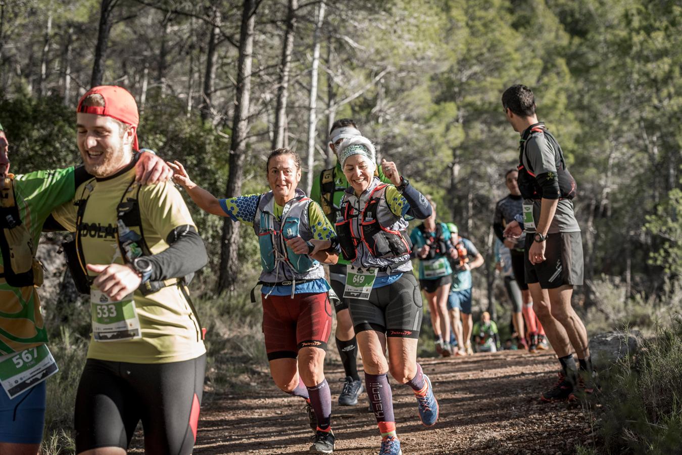
[[[0,454],[40,450],[46,379],[58,367],[46,345],[37,288],[42,265],[35,253],[40,231],[56,207],[73,199],[76,186],[92,178],[84,166],[13,175],[9,141],[0,125]],[[143,153],[140,180],[168,175],[163,160]]]

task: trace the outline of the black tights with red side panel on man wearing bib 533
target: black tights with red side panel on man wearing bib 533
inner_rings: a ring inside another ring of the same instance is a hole
[[[76,394],[76,453],[128,450],[142,420],[145,454],[191,454],[205,366],[205,354],[168,364],[87,359]]]

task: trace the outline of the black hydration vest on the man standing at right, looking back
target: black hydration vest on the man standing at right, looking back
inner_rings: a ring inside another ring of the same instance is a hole
[[[535,179],[535,173],[533,173],[533,169],[530,167],[530,161],[527,160],[529,162],[528,167],[523,164],[523,157],[526,155],[527,144],[533,132],[542,132],[554,149],[554,164],[557,166],[557,177],[559,178],[559,190],[561,192],[559,198],[573,199],[576,196],[576,181],[566,168],[563,152],[561,151],[561,146],[557,142],[557,139],[552,136],[542,122],[531,125],[524,131],[524,134],[521,137],[521,145],[519,146],[520,153],[518,157],[519,164],[517,167],[518,189],[521,192],[521,196],[523,199],[542,199],[542,187],[540,187],[537,183],[537,179]]]

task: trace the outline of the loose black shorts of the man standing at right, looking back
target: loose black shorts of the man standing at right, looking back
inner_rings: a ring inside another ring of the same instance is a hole
[[[527,283],[538,283],[542,289],[555,289],[569,284],[582,284],[582,238],[579,232],[550,234],[546,240],[545,258],[542,263],[533,265],[528,259],[528,251],[533,243],[533,235],[526,236],[524,268]]]

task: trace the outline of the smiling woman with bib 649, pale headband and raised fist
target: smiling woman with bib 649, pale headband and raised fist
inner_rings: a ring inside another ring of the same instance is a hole
[[[349,298],[367,392],[382,435],[379,453],[398,455],[402,452],[387,372],[412,387],[422,424],[432,426],[438,419],[431,382],[417,364],[422,304],[407,235],[407,220],[424,220],[431,206],[400,177],[394,162],[381,163],[391,184],[374,177],[374,145],[367,138],[349,138],[342,147],[339,161],[351,185],[336,222],[342,252],[351,261],[344,297]]]

